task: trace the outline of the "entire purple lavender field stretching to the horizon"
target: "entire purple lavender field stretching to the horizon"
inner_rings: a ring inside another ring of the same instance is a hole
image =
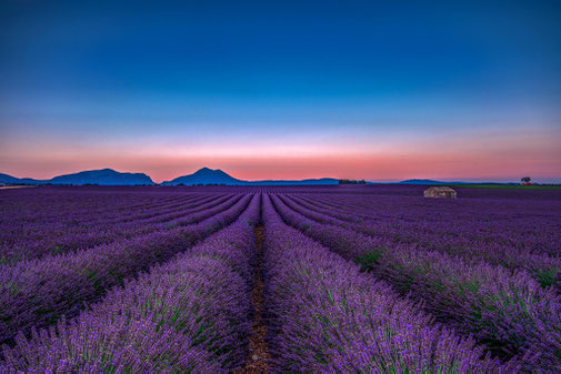
[[[0,191],[0,372],[561,372],[561,191]]]

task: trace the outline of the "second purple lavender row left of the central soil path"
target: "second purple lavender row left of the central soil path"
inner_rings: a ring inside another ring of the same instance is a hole
[[[251,199],[240,198],[232,206],[220,204],[201,212],[206,220],[197,224],[2,269],[0,342],[10,341],[18,331],[28,333],[32,327],[48,326],[63,314],[76,315],[84,303],[98,300],[111,286],[231,223]]]

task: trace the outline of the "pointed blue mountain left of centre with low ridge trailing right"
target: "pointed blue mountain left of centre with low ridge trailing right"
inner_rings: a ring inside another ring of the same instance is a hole
[[[197,172],[176,178],[172,181],[163,182],[162,185],[197,185],[197,184],[226,184],[226,185],[314,185],[314,184],[338,184],[339,180],[332,178],[307,179],[300,181],[243,181],[228,175],[221,170],[202,168]]]

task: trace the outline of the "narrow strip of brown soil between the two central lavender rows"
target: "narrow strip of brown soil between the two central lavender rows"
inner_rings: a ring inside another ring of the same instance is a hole
[[[251,302],[256,310],[249,343],[249,357],[246,367],[236,371],[238,374],[246,373],[269,373],[269,350],[267,348],[267,326],[263,321],[263,280],[261,269],[263,266],[263,226],[257,226],[256,243],[258,250],[258,265],[254,269],[254,284],[251,292]]]

